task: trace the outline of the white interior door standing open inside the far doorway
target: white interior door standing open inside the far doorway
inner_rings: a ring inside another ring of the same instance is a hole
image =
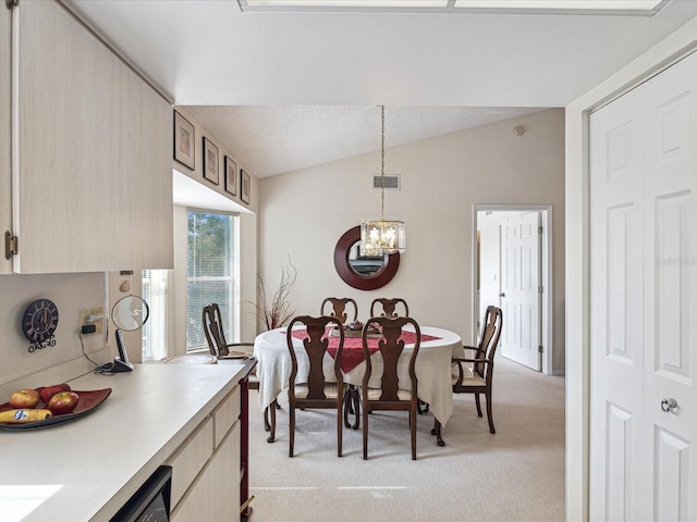
[[[501,355],[541,370],[540,214],[522,213],[501,224]]]

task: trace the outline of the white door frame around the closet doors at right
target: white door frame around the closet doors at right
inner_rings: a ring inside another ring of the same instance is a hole
[[[697,49],[697,18],[566,108],[566,520],[588,520],[588,113]]]

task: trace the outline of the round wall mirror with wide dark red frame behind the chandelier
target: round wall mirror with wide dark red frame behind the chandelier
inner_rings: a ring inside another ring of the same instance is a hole
[[[339,238],[334,248],[337,273],[347,285],[359,290],[375,290],[387,285],[400,266],[400,252],[362,256],[360,227],[354,226]]]

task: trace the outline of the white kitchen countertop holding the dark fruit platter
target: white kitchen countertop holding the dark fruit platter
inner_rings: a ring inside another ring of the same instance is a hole
[[[0,430],[0,519],[109,520],[234,388],[243,370],[243,363],[136,364],[130,373],[69,381],[76,390],[112,393],[71,422]]]

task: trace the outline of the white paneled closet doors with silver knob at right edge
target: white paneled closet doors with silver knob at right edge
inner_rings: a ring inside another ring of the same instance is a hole
[[[591,520],[697,519],[695,92],[697,54],[590,116]]]

